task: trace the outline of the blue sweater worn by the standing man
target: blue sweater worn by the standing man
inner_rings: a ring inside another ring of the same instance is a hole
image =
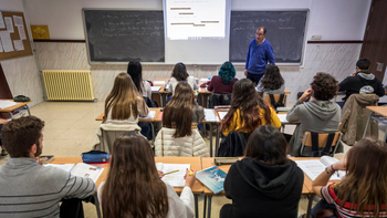
[[[263,74],[268,61],[275,64],[273,48],[268,40],[258,45],[257,40],[250,42],[248,56],[245,58],[245,66],[251,74]]]

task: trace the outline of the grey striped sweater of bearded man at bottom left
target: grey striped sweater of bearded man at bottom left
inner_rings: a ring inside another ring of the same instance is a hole
[[[85,198],[95,190],[90,178],[28,157],[9,158],[0,166],[0,217],[59,217],[62,198]]]

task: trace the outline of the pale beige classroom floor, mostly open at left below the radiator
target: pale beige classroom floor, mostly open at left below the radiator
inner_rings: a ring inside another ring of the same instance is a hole
[[[69,103],[69,102],[43,102],[31,108],[31,114],[45,122],[43,129],[43,155],[55,155],[56,157],[75,157],[81,153],[92,149],[95,134],[101,122],[96,122],[104,108],[104,102],[95,103]],[[294,125],[285,127],[285,132],[292,134]],[[215,142],[215,138],[212,138]],[[209,146],[209,139],[206,138]],[[348,149],[345,146],[345,152]],[[8,157],[0,157],[0,165]],[[219,217],[219,210],[231,203],[224,196],[212,198],[211,217]],[[202,217],[203,196],[199,196],[199,217]],[[306,211],[307,200],[302,198],[299,212]],[[95,207],[84,204],[85,217],[96,217]]]

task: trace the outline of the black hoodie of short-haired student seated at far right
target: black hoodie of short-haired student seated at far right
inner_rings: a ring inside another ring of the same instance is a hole
[[[380,81],[374,74],[368,72],[358,72],[355,76],[348,76],[339,84],[339,92],[345,91],[345,102],[352,94],[375,93],[378,96],[385,95],[385,89]]]

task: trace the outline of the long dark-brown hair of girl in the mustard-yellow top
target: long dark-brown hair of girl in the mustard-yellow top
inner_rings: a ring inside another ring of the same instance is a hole
[[[249,132],[262,125],[262,120],[268,124],[272,123],[270,106],[258,94],[254,84],[249,79],[242,79],[233,85],[231,107],[220,125],[222,132],[229,128],[231,121],[237,115],[237,110],[240,110],[242,123]],[[264,111],[263,117],[259,110]]]

